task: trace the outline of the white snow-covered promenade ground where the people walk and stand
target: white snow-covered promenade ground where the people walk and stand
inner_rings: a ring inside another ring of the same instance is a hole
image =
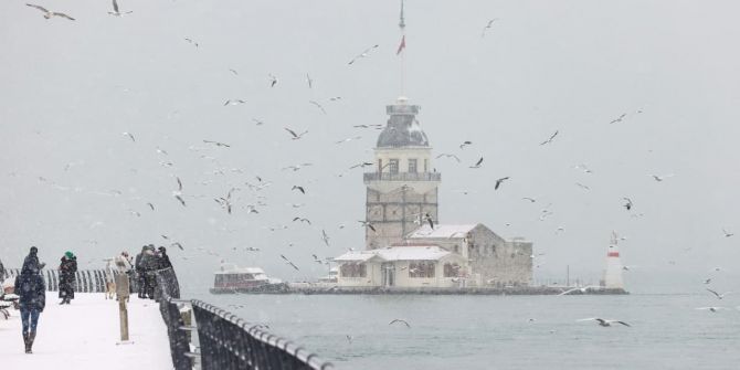
[[[154,300],[134,296],[128,305],[129,339],[120,339],[118,303],[102,293],[75,293],[71,305],[57,305],[46,293],[33,353],[23,353],[20,311],[0,316],[2,369],[172,369],[167,327]]]

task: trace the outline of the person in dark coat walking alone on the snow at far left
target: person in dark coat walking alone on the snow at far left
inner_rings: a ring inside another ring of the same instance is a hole
[[[39,264],[38,251],[35,246],[31,247],[31,253],[23,261],[21,274],[15,276],[14,286],[14,292],[20,297],[18,303],[21,309],[23,343],[25,343],[27,353],[31,353],[33,340],[36,338],[39,316],[46,306],[46,285],[40,274],[44,264]]]

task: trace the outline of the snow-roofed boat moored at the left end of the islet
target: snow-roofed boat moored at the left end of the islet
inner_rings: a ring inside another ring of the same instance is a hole
[[[212,294],[222,293],[284,293],[288,285],[278,278],[268,277],[260,267],[237,267],[222,264],[215,272]]]

